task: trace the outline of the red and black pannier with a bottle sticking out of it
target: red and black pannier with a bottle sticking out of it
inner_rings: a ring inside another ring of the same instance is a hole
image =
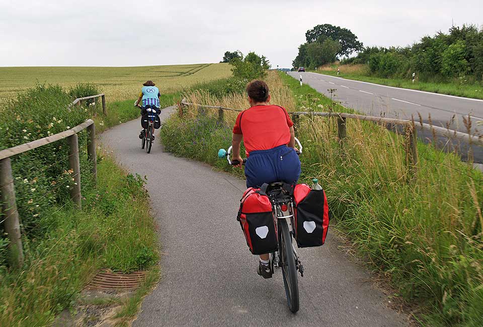
[[[324,190],[312,190],[297,184],[295,201],[295,240],[299,248],[319,247],[326,241],[329,229],[329,205]]]

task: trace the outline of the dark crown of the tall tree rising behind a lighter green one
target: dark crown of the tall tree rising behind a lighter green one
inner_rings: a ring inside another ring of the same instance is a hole
[[[338,56],[347,56],[354,51],[359,51],[363,48],[362,43],[357,40],[357,36],[355,36],[349,29],[331,24],[315,26],[313,29],[308,30],[307,33],[305,33],[305,38],[307,43],[323,43],[327,38],[338,41],[341,45],[341,49],[337,53]]]

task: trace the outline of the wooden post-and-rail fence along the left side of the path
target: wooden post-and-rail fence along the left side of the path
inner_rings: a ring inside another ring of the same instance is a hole
[[[104,94],[75,99],[69,107],[76,104],[80,105],[81,101],[83,100],[96,99],[99,97],[102,98],[103,113],[106,114],[106,97]],[[70,189],[70,198],[80,209],[82,198],[81,163],[79,161],[79,144],[77,133],[84,129],[87,129],[89,133],[87,155],[89,160],[92,162],[91,172],[94,175],[95,181],[97,181],[97,154],[95,139],[96,127],[92,119],[89,119],[84,123],[66,131],[0,151],[0,204],[2,204],[2,212],[4,213],[5,231],[10,239],[9,250],[11,266],[21,267],[24,262],[20,220],[15,199],[14,178],[12,175],[11,157],[67,138],[69,145],[69,169],[72,170],[72,177],[74,178],[74,185]]]

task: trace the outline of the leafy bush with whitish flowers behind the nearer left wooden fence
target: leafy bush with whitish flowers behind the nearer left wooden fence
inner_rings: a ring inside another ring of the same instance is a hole
[[[20,94],[0,111],[0,149],[62,132],[89,118],[85,110],[67,109],[69,103],[69,95],[59,86],[38,85]],[[78,137],[82,148],[87,144],[86,131],[78,133]],[[67,140],[62,139],[12,157],[17,207],[29,237],[45,233],[51,223],[44,221],[45,213],[69,199],[74,181],[68,168],[68,151]],[[87,185],[87,155],[82,155],[81,160],[83,183]]]

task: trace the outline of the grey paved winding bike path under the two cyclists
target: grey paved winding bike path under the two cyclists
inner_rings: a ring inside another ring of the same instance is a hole
[[[162,120],[172,112],[165,109]],[[134,120],[101,135],[126,169],[147,177],[158,224],[162,277],[133,326],[408,325],[333,232],[324,247],[300,249],[305,274],[299,277],[300,311],[292,314],[281,272],[268,280],[257,275],[258,258],[235,219],[245,181],[163,152],[157,137],[147,154],[139,130]]]

